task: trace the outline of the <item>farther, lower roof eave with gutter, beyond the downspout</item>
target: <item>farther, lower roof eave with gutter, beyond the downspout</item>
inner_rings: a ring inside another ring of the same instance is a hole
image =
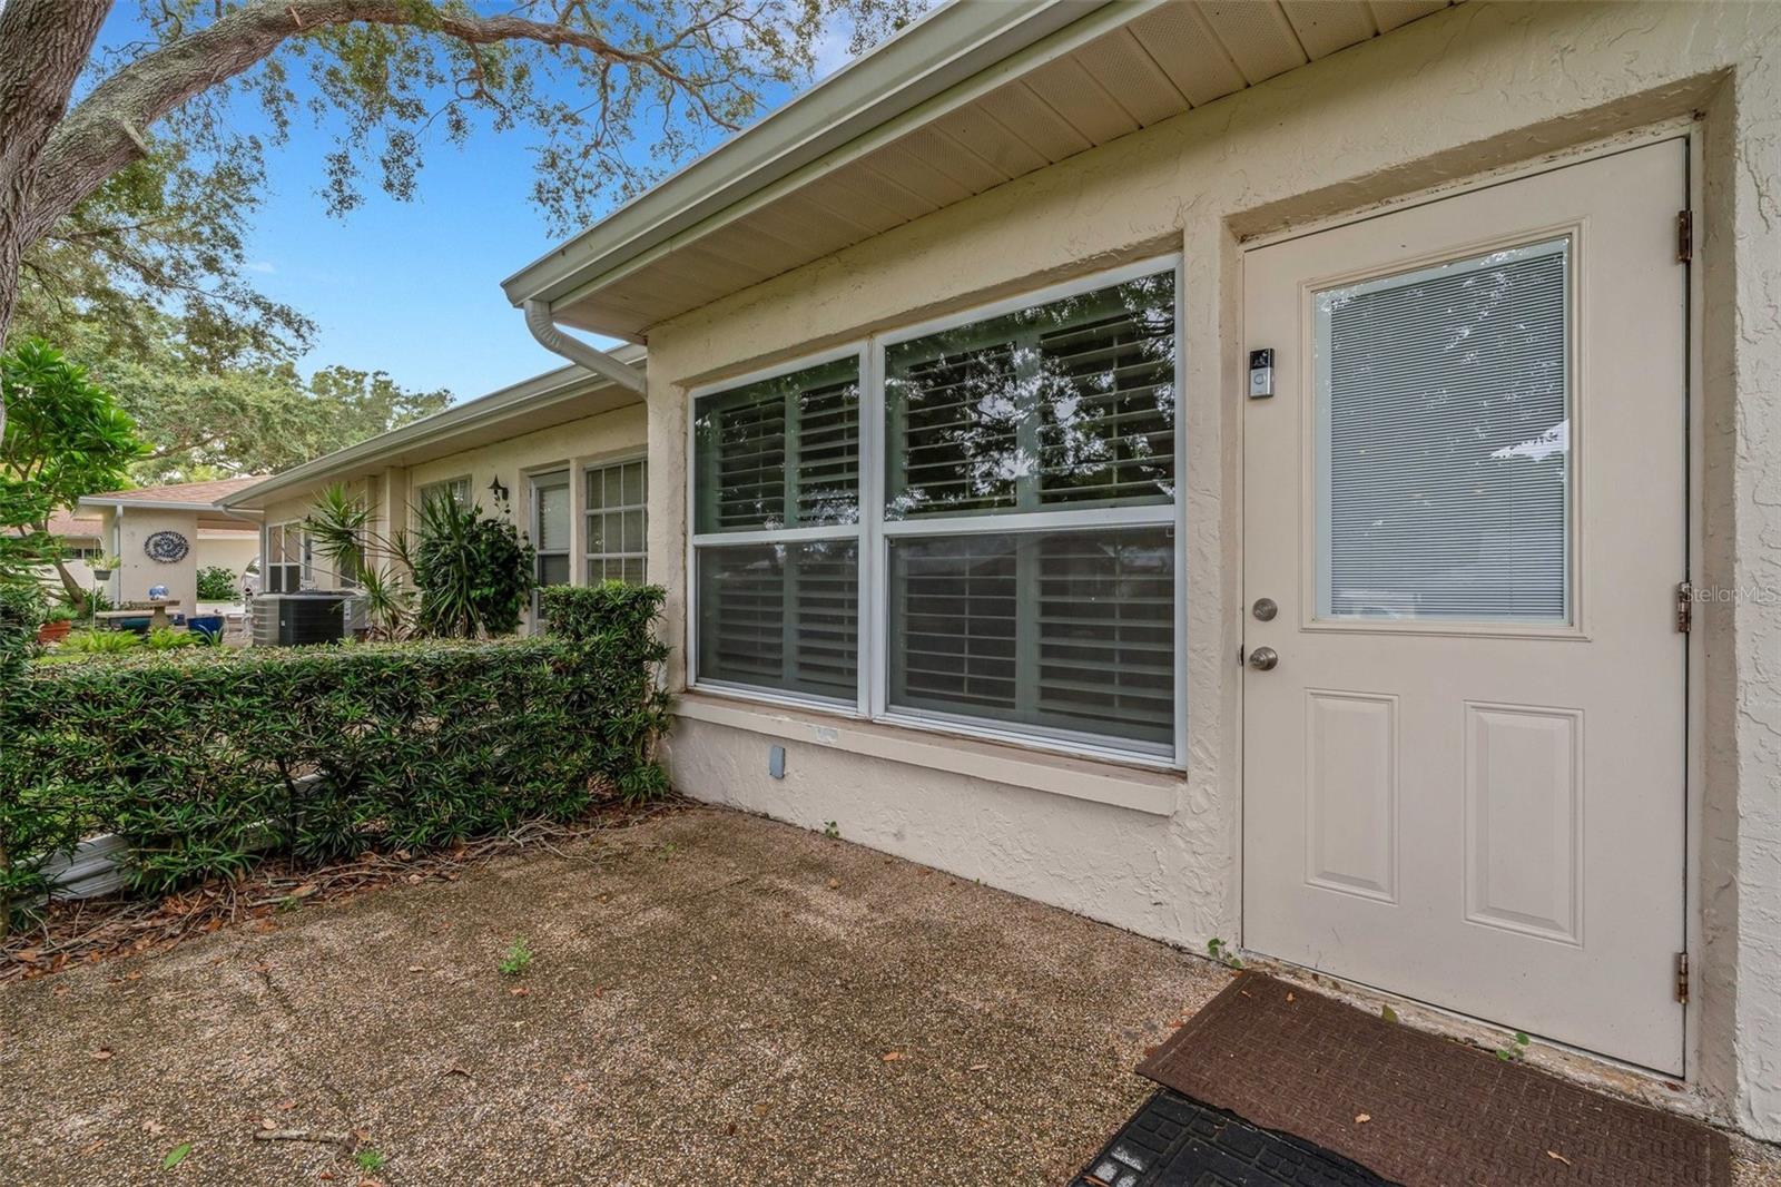
[[[639,348],[625,348],[614,355],[632,365],[643,360]],[[611,380],[590,374],[582,367],[559,367],[274,474],[264,483],[228,495],[223,506],[264,508],[274,499],[329,483],[367,478],[390,467],[419,465],[638,403],[643,403],[641,394]]]

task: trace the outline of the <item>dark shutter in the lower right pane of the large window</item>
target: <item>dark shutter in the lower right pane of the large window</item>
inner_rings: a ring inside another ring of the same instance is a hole
[[[1168,528],[898,536],[890,706],[1174,738]]]

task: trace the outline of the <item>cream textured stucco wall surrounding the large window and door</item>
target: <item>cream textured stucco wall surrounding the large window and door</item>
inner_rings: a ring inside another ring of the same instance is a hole
[[[650,333],[650,567],[684,640],[686,390],[980,299],[1184,251],[1188,772],[1151,816],[857,757],[807,729],[671,741],[693,795],[819,827],[1186,945],[1240,936],[1241,237],[1699,114],[1704,226],[1690,1078],[1781,1137],[1781,5],[1473,0],[1010,182]],[[675,659],[677,674],[680,658]],[[800,733],[801,731],[801,733]]]

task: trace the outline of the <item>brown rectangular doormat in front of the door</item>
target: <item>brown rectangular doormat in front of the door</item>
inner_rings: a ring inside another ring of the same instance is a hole
[[[1724,1134],[1243,973],[1138,1068],[1405,1187],[1728,1187]]]

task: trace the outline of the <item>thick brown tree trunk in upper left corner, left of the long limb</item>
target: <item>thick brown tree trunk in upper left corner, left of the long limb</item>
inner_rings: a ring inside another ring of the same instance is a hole
[[[0,349],[18,305],[20,260],[37,239],[30,217],[37,164],[109,11],[110,0],[0,4]]]

